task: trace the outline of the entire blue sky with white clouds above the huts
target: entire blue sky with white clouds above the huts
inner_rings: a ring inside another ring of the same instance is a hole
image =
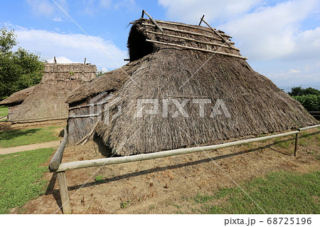
[[[211,26],[233,35],[235,46],[252,68],[279,88],[287,91],[302,85],[320,89],[320,1],[265,2],[1,1],[0,26],[14,29],[19,46],[41,53],[49,62],[53,56],[58,63],[82,63],[87,58],[100,69],[112,70],[125,64],[129,21],[139,19],[142,9],[154,19],[191,24],[198,24],[205,14]]]

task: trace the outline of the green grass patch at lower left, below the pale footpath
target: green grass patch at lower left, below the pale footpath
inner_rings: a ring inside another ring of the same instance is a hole
[[[21,207],[27,201],[46,192],[47,182],[42,179],[47,162],[54,149],[36,149],[15,154],[0,155],[0,213]]]

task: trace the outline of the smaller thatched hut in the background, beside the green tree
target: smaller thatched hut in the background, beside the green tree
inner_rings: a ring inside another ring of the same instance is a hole
[[[68,119],[66,97],[96,77],[96,66],[46,63],[41,83],[6,98],[9,120],[17,123]]]

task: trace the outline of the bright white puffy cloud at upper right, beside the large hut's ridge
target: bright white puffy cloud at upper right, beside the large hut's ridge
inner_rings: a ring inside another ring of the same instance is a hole
[[[300,25],[317,5],[315,0],[285,1],[269,6],[255,16],[235,34],[236,45],[250,58],[267,60],[292,56],[297,51]],[[229,21],[222,27],[230,34],[240,28],[251,16]]]

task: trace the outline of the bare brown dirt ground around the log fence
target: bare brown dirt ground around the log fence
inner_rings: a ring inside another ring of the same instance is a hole
[[[289,142],[289,147],[283,148],[279,141],[270,140],[206,153],[66,171],[72,212],[197,213],[188,198],[199,192],[214,194],[218,189],[235,186],[216,164],[238,184],[270,171],[319,170],[320,131],[307,133],[312,135],[312,142],[299,145],[297,157],[293,156],[294,137],[282,137],[280,142]],[[96,138],[84,146],[67,147],[63,162],[108,155]],[[104,180],[97,183],[96,176]],[[46,194],[11,213],[62,213],[56,175],[48,172],[44,178],[50,181]]]

